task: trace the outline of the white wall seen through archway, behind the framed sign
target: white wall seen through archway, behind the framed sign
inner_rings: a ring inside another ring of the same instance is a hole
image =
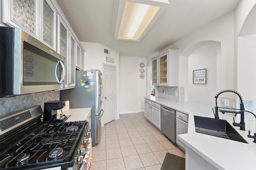
[[[216,95],[217,44],[200,47],[188,57],[188,101],[212,107]],[[193,84],[193,70],[206,68],[206,84]]]

